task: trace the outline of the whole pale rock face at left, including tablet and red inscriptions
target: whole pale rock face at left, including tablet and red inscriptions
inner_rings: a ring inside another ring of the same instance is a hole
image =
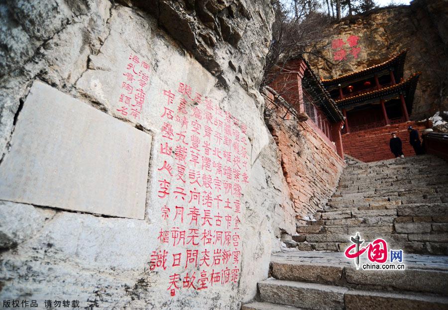
[[[237,310],[295,232],[270,2],[146,4],[0,4],[0,300]]]

